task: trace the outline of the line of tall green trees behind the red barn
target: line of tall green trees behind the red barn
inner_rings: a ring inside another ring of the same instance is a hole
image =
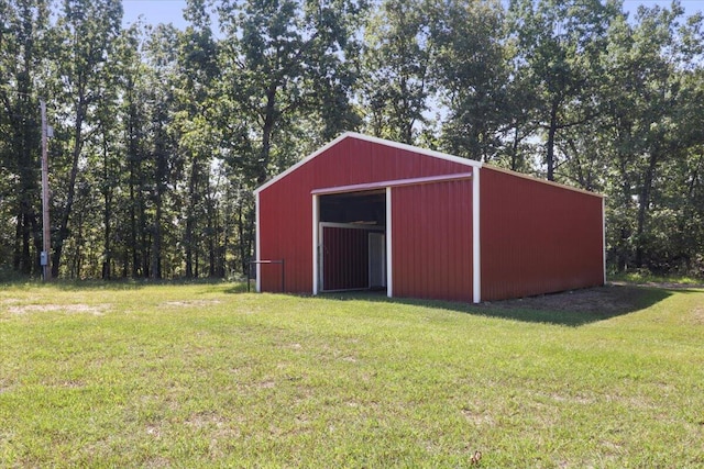
[[[608,0],[0,0],[0,272],[230,277],[252,191],[343,131],[607,196],[609,269],[704,275],[704,21]],[[282,201],[285,203],[285,201]]]

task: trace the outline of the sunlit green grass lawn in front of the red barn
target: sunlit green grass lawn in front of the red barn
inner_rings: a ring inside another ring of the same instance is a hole
[[[601,291],[0,286],[0,467],[703,467],[704,290]]]

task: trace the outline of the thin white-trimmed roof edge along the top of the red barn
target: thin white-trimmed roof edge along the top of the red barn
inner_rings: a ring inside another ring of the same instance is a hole
[[[371,135],[365,135],[365,134],[360,134],[356,132],[345,132],[342,135],[340,135],[339,137],[337,137],[336,139],[329,142],[327,145],[320,147],[319,149],[317,149],[316,152],[311,153],[310,155],[308,155],[307,157],[305,157],[304,159],[301,159],[300,161],[296,163],[294,166],[289,167],[288,169],[286,169],[285,171],[278,174],[277,176],[275,176],[274,178],[270,179],[268,181],[264,182],[262,186],[260,186],[258,188],[256,188],[254,190],[254,193],[257,194],[258,192],[263,191],[264,189],[268,188],[270,186],[273,186],[274,183],[276,183],[277,181],[279,181],[280,179],[285,178],[286,176],[288,176],[289,174],[294,172],[296,169],[300,168],[301,166],[306,165],[308,161],[315,159],[317,156],[321,155],[322,153],[327,152],[328,149],[330,149],[331,147],[336,146],[337,144],[339,144],[340,142],[346,139],[346,138],[354,138],[354,139],[360,139],[360,141],[365,141],[365,142],[371,142],[377,145],[384,145],[384,146],[389,146],[393,148],[398,148],[398,149],[403,149],[406,152],[413,152],[415,154],[420,154],[420,155],[426,155],[426,156],[430,156],[432,158],[439,158],[439,159],[444,159],[447,161],[452,161],[452,163],[457,163],[460,165],[464,165],[471,168],[482,168],[482,167],[487,167],[497,171],[502,171],[502,172],[506,172],[509,175],[514,175],[520,178],[526,178],[526,179],[530,179],[534,180],[536,182],[541,182],[541,183],[546,183],[549,186],[556,186],[562,189],[568,189],[568,190],[573,190],[576,192],[582,192],[582,193],[586,193],[590,196],[594,196],[594,197],[600,197],[600,198],[604,198],[604,196],[596,193],[596,192],[591,192],[584,189],[579,189],[579,188],[574,188],[572,186],[565,186],[565,185],[561,185],[558,182],[553,182],[553,181],[548,181],[546,179],[540,179],[540,178],[536,178],[534,176],[530,175],[526,175],[522,172],[516,172],[516,171],[512,171],[509,169],[505,169],[505,168],[501,168],[494,165],[487,165],[481,161],[476,161],[473,159],[468,159],[468,158],[462,158],[460,156],[454,156],[454,155],[450,155],[447,153],[442,153],[442,152],[436,152],[432,149],[427,149],[427,148],[421,148],[418,146],[413,146],[413,145],[408,145],[408,144],[404,144],[404,143],[398,143],[398,142],[393,142],[393,141],[388,141],[388,139],[384,139],[384,138],[378,138],[378,137],[373,137]]]

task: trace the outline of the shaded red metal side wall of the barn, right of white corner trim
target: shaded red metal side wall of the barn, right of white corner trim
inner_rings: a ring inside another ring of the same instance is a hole
[[[604,283],[601,197],[481,174],[482,301]]]

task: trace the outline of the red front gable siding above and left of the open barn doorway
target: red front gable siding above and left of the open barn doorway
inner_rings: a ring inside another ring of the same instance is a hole
[[[468,166],[348,137],[260,191],[260,257],[286,259],[286,290],[312,291],[312,198],[320,188],[466,172]],[[435,208],[429,209],[435,210]],[[262,291],[278,291],[262,269]]]

